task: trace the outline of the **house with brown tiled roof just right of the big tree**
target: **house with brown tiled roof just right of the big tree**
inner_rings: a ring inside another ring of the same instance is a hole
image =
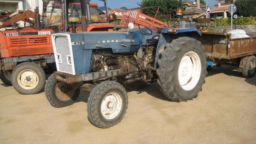
[[[185,11],[183,12],[183,17],[194,17],[195,15],[201,14],[206,11],[206,5],[200,4],[200,1],[197,2],[190,0],[182,0],[183,8]]]

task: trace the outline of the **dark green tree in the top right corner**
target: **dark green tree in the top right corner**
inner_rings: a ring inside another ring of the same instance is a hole
[[[236,14],[244,17],[256,16],[256,0],[236,0]]]

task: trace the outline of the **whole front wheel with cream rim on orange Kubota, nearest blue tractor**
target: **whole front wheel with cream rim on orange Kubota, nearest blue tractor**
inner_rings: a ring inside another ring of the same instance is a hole
[[[20,94],[36,94],[44,87],[44,70],[33,62],[21,63],[13,69],[11,81]]]

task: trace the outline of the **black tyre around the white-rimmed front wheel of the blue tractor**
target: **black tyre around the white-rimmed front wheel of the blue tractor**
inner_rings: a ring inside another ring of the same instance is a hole
[[[114,118],[113,120],[106,120],[101,115],[99,115],[100,107],[98,106],[99,106],[99,101],[101,102],[101,98],[105,96],[105,95],[102,95],[104,91],[111,88],[119,88],[121,91],[124,92],[124,100],[122,101],[123,107],[119,115],[116,116],[116,118]],[[90,93],[90,97],[88,98],[88,103],[87,103],[88,120],[97,127],[109,128],[121,122],[121,120],[124,118],[127,108],[128,108],[128,96],[124,87],[121,84],[114,81],[105,81],[98,84]]]

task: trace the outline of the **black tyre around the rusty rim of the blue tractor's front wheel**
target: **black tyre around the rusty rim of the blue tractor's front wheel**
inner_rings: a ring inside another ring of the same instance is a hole
[[[57,96],[55,94],[55,88],[56,88],[58,81],[55,80],[53,77],[54,77],[54,74],[52,74],[48,78],[48,80],[46,81],[45,87],[44,87],[45,96],[46,96],[47,100],[50,102],[50,104],[56,108],[62,108],[62,107],[66,107],[66,106],[74,104],[76,102],[76,99],[78,98],[78,95],[80,94],[80,89],[75,90],[71,99],[65,100],[65,101],[60,100],[59,98],[57,98]]]

